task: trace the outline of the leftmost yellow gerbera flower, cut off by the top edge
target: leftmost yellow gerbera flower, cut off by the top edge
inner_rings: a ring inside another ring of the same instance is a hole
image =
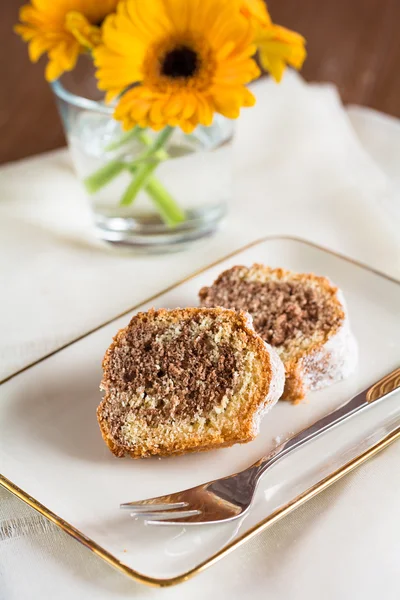
[[[48,54],[46,79],[74,68],[78,55],[100,42],[98,25],[115,10],[118,0],[31,0],[22,6],[15,31],[29,42],[36,62]]]

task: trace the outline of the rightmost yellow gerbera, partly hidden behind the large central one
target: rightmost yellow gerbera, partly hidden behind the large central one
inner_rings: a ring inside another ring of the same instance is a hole
[[[263,0],[241,0],[240,10],[254,28],[261,65],[275,81],[281,81],[286,65],[301,69],[307,56],[302,35],[274,25]]]

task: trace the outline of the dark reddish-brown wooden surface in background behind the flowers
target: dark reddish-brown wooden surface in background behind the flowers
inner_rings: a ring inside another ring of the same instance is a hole
[[[0,163],[65,143],[44,61],[32,65],[12,30],[24,3],[3,0],[0,8]],[[307,38],[307,80],[331,81],[343,102],[400,117],[400,0],[269,0],[268,6],[276,23]]]

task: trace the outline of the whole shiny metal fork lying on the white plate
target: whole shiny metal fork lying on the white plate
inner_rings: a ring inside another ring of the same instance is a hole
[[[267,456],[229,477],[175,494],[121,504],[134,517],[159,525],[201,525],[232,521],[250,508],[260,478],[274,464],[339,423],[382,400],[400,387],[400,368],[389,373],[310,427],[280,444]]]

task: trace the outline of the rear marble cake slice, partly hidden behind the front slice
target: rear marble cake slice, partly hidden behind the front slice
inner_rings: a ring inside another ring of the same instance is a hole
[[[342,292],[326,277],[236,266],[200,290],[204,307],[245,310],[254,328],[285,365],[282,399],[299,402],[308,391],[347,377],[357,363]]]

